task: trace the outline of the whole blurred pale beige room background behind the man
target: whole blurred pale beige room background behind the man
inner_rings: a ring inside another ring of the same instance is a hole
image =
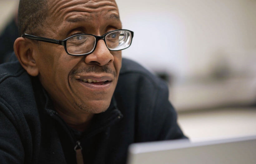
[[[166,80],[191,141],[256,135],[256,0],[116,2],[135,32],[123,57]],[[17,4],[0,0],[2,35]]]

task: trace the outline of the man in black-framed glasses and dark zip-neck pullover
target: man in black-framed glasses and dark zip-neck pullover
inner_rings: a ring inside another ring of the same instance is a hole
[[[164,82],[121,58],[114,0],[21,0],[0,67],[1,163],[125,163],[131,143],[185,138]],[[121,69],[122,66],[122,69]]]

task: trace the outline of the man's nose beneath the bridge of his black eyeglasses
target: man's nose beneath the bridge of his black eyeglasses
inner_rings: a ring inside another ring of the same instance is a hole
[[[85,57],[86,64],[97,64],[104,66],[114,61],[114,56],[110,53],[103,39],[97,43],[95,50]]]

